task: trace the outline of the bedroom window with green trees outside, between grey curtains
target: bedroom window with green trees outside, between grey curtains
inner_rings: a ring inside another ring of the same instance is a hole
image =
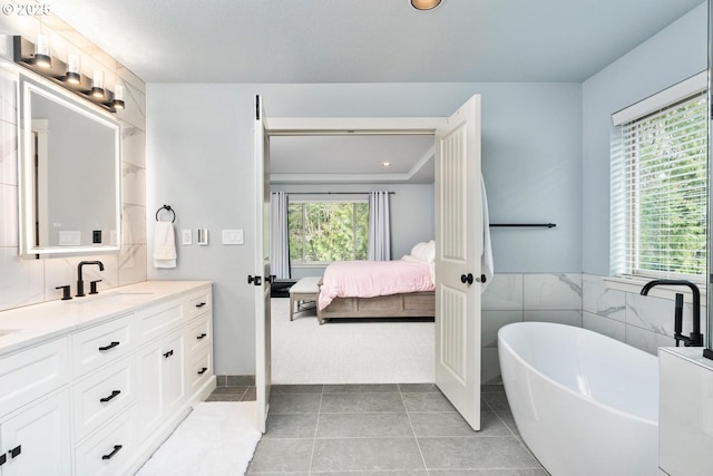
[[[367,260],[369,203],[292,202],[289,206],[292,265]]]

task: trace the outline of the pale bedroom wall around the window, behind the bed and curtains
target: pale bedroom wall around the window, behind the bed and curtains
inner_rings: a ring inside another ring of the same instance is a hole
[[[391,218],[391,258],[401,259],[411,252],[416,243],[434,236],[433,184],[313,184],[273,185],[274,191],[285,192],[369,192],[389,191]],[[296,196],[300,197],[299,195]],[[326,196],[325,196],[326,197]],[[334,195],[332,195],[334,197]],[[418,210],[418,213],[413,213]],[[292,278],[322,275],[324,266],[292,268]]]

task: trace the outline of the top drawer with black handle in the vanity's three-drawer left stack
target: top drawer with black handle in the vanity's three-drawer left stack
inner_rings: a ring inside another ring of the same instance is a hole
[[[117,361],[136,348],[134,314],[77,332],[72,336],[75,378]]]

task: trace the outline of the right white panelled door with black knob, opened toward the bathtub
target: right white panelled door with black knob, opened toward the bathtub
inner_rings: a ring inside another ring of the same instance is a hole
[[[480,96],[436,130],[436,383],[480,429]]]

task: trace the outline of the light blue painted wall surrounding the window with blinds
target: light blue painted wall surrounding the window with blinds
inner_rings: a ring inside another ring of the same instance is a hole
[[[707,2],[583,84],[583,271],[609,273],[612,114],[707,68]]]

